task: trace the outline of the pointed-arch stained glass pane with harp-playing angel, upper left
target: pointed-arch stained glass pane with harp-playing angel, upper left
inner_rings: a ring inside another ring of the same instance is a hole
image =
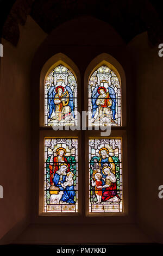
[[[77,81],[70,70],[59,65],[45,82],[45,125],[77,125]]]

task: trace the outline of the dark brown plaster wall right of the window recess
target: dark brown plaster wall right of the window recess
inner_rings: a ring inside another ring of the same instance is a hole
[[[137,221],[154,241],[163,242],[163,58],[158,47],[148,44],[147,33],[137,35],[127,46],[133,59],[136,109],[136,202]]]

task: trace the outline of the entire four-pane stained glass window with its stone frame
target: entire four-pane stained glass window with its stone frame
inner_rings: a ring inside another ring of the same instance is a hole
[[[43,187],[40,214],[78,214],[83,211],[84,197],[86,215],[124,214],[127,212],[124,71],[109,54],[101,54],[85,71],[83,97],[77,89],[78,68],[70,59],[67,58],[67,64],[63,57],[59,59],[60,56],[56,55],[55,62],[48,60],[49,64],[43,66],[40,77],[40,82],[44,81],[40,93],[44,99],[40,106]],[[89,112],[88,127],[84,131],[81,131],[82,126],[80,131],[67,129],[68,126],[77,126],[77,110],[80,111],[77,103],[80,105],[80,101],[85,101],[83,110]],[[111,126],[111,135],[101,136],[100,127],[108,125]],[[63,129],[57,130],[58,126]],[[89,131],[90,127],[92,131]],[[85,156],[82,155],[84,151]],[[81,168],[83,160],[85,168]],[[84,169],[86,190],[81,193]]]

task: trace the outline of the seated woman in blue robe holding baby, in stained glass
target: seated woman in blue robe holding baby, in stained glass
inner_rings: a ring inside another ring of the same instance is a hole
[[[66,173],[67,165],[65,163],[60,164],[59,170],[55,172],[53,182],[56,187],[60,188],[60,191],[64,191],[61,201],[66,203],[75,204],[74,202],[74,186],[73,186],[73,173]]]

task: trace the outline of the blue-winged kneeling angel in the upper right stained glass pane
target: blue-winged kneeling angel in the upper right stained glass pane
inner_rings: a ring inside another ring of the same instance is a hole
[[[112,87],[108,87],[107,92],[103,86],[95,87],[92,92],[92,121],[98,123],[115,123],[115,114],[115,90]]]

